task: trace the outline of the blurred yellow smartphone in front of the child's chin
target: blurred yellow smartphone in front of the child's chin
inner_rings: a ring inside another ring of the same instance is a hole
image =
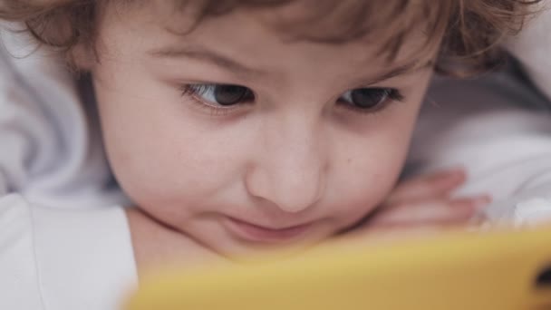
[[[551,228],[333,245],[146,276],[128,310],[551,309]]]

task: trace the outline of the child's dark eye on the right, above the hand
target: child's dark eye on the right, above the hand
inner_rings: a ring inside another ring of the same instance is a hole
[[[361,111],[378,111],[389,100],[401,101],[403,96],[393,88],[358,88],[344,92],[339,99],[353,109]]]

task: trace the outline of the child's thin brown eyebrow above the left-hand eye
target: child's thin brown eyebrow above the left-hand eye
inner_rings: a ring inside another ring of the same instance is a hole
[[[228,58],[225,55],[210,51],[200,46],[168,46],[148,52],[156,58],[191,58],[199,61],[215,63],[219,67],[226,68],[228,71],[237,73],[252,79],[258,75],[264,75],[265,72],[251,69],[243,63]]]

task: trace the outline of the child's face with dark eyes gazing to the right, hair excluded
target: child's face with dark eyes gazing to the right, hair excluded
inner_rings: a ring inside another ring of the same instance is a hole
[[[386,63],[377,42],[290,41],[266,15],[186,35],[165,28],[178,18],[105,15],[90,68],[112,169],[140,208],[235,255],[313,244],[382,202],[430,80],[429,66],[401,67],[423,40]]]

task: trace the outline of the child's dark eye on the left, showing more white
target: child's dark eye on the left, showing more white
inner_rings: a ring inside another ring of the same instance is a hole
[[[184,87],[184,94],[215,107],[250,102],[255,98],[247,87],[231,84],[190,84]]]

